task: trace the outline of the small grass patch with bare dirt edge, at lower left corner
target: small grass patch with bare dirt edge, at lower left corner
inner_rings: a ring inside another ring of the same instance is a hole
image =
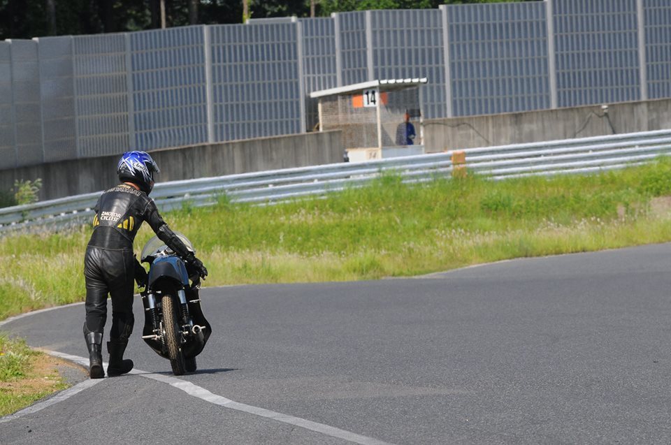
[[[0,417],[67,388],[59,360],[31,350],[23,340],[0,335]]]

